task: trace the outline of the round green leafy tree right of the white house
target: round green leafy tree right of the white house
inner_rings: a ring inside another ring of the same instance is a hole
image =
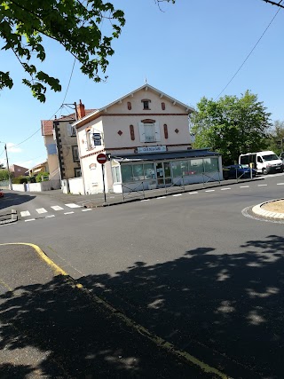
[[[204,97],[193,114],[193,146],[218,151],[225,163],[237,161],[240,154],[264,148],[272,125],[270,115],[249,91],[241,99],[225,96],[215,101]]]

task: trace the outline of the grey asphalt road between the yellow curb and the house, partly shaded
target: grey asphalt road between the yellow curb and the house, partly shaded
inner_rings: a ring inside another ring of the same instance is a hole
[[[282,198],[283,184],[272,176],[20,221],[0,229],[1,242],[38,244],[131,320],[227,375],[281,378],[283,223],[249,208]]]

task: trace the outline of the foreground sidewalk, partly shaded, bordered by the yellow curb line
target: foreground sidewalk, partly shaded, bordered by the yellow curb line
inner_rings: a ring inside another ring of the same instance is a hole
[[[1,377],[226,377],[178,358],[36,246],[0,244],[0,257]]]

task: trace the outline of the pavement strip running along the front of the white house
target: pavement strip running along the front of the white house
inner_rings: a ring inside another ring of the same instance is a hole
[[[197,183],[193,185],[188,185],[185,187],[174,186],[168,188],[159,188],[154,190],[140,191],[140,192],[132,192],[132,193],[106,193],[106,201],[104,199],[104,193],[96,193],[89,195],[79,195],[79,194],[65,194],[62,193],[61,190],[54,191],[44,191],[42,193],[30,193],[33,195],[46,195],[51,196],[53,198],[58,199],[61,202],[75,202],[77,204],[82,205],[85,208],[97,208],[97,207],[108,207],[117,204],[123,204],[131,201],[141,201],[146,199],[154,199],[160,196],[169,196],[177,193],[186,193],[186,192],[194,192],[201,191],[209,188],[216,188],[220,186],[233,186],[240,183],[248,183],[250,181],[256,180],[264,180],[264,178],[253,178],[253,179],[242,179],[237,181],[236,179],[223,180],[220,182],[209,182],[205,183]]]

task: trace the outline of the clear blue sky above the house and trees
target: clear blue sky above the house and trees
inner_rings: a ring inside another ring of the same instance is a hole
[[[72,113],[63,101],[104,107],[145,82],[191,107],[203,96],[217,99],[224,89],[221,97],[249,90],[272,122],[284,121],[284,9],[263,0],[176,0],[161,9],[154,0],[112,3],[125,12],[126,25],[113,43],[106,83],[91,81],[78,62],[71,75],[74,58],[45,39],[47,57],[37,67],[58,77],[62,91],[47,91],[43,104],[21,84],[24,73],[12,52],[0,50],[0,70],[10,71],[14,81],[12,90],[0,91],[0,163],[6,165],[4,144],[10,165],[29,169],[44,162],[41,120]]]

